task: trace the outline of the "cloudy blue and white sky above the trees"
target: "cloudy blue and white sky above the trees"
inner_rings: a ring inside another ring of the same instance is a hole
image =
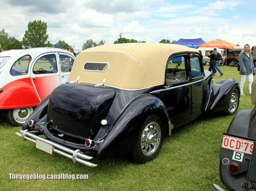
[[[81,50],[88,39],[113,44],[122,37],[159,43],[202,38],[256,45],[256,1],[0,0],[0,30],[22,40],[28,22],[42,20],[52,44]]]

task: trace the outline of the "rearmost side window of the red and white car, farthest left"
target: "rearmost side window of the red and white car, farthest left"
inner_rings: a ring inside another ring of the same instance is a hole
[[[26,75],[28,73],[28,65],[30,65],[31,56],[26,55],[19,58],[11,67],[11,75]]]

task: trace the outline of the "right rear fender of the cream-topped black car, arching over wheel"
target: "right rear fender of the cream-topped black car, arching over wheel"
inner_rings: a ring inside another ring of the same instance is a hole
[[[115,121],[98,150],[98,158],[130,151],[137,142],[144,120],[151,114],[158,114],[162,118],[164,131],[168,132],[168,126],[171,128],[171,125],[168,125],[170,120],[163,102],[150,94],[139,95],[123,109]]]

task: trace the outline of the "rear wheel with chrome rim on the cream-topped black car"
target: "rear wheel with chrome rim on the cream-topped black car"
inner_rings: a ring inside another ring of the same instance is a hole
[[[148,116],[133,148],[133,159],[139,164],[154,159],[163,145],[163,125],[159,116]]]

